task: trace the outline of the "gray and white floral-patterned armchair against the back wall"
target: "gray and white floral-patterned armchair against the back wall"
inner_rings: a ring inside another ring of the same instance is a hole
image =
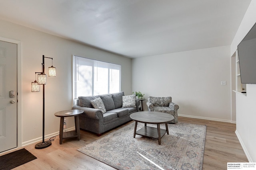
[[[178,123],[179,106],[172,102],[172,97],[152,97],[148,96],[148,111],[159,111],[169,113],[174,116],[170,123]]]

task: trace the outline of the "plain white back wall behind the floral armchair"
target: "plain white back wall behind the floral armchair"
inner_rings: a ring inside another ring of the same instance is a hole
[[[184,116],[230,122],[230,67],[230,46],[132,59],[132,90],[172,96]]]

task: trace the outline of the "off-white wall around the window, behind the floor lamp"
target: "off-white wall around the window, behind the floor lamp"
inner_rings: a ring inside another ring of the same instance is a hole
[[[42,86],[41,92],[31,92],[35,72],[42,68],[42,55],[53,58],[57,76],[48,77],[45,85],[45,136],[59,131],[60,118],[54,113],[72,108],[72,55],[87,57],[122,65],[122,91],[132,93],[131,64],[127,57],[115,55],[49,35],[34,29],[0,20],[0,37],[22,42],[22,143],[42,139]],[[51,60],[45,59],[46,71]],[[67,118],[68,128],[74,126],[74,118]]]

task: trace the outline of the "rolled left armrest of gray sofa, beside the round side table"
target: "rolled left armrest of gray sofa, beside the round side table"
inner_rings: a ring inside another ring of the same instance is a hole
[[[100,109],[94,109],[90,107],[82,107],[82,106],[73,106],[72,109],[80,109],[83,110],[86,117],[89,117],[91,119],[102,119],[103,120],[103,113]]]

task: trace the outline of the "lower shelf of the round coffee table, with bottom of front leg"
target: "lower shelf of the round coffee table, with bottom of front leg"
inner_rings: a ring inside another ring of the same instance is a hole
[[[158,129],[156,127],[144,126],[140,130],[136,131],[136,135],[158,139],[158,143],[161,145],[161,138],[166,132],[166,129],[160,129],[160,137],[158,137]]]

